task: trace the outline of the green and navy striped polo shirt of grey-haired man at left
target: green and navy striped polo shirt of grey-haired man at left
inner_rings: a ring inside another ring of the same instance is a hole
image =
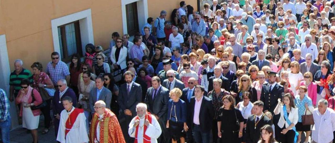
[[[21,81],[23,79],[28,79],[31,84],[33,83],[32,74],[29,70],[22,68],[21,72],[18,75],[16,75],[15,70],[14,72],[10,73],[9,85],[14,87],[15,96],[21,89]]]

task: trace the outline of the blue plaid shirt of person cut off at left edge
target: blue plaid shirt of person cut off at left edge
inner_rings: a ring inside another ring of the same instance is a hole
[[[0,89],[0,122],[7,119],[9,115],[9,101],[5,91]]]

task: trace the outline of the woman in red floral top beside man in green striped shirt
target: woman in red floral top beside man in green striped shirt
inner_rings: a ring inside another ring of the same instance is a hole
[[[50,77],[42,72],[43,65],[41,62],[34,62],[31,66],[32,73],[34,74],[32,78],[34,79],[34,83],[32,84],[32,87],[35,88],[39,93],[41,93],[41,90],[43,88],[54,88],[54,84],[52,83]],[[44,130],[42,131],[42,134],[46,134],[49,132],[50,124],[51,124],[51,116],[50,116],[50,103],[51,98],[49,100],[46,100],[47,106],[44,108],[41,108],[41,111],[44,115]]]

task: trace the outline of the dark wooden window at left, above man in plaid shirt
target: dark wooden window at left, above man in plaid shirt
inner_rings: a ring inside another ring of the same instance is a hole
[[[58,26],[58,38],[62,61],[70,62],[75,53],[82,56],[79,20]]]

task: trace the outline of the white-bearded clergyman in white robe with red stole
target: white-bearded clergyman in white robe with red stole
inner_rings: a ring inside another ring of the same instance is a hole
[[[134,143],[157,143],[162,130],[155,116],[147,112],[147,105],[144,103],[136,105],[136,114],[128,130],[130,137],[135,138]]]

